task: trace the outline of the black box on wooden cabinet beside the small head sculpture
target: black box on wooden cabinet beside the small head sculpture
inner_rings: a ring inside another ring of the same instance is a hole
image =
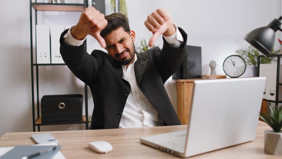
[[[202,49],[187,45],[187,54],[180,68],[172,75],[172,79],[202,78]]]

